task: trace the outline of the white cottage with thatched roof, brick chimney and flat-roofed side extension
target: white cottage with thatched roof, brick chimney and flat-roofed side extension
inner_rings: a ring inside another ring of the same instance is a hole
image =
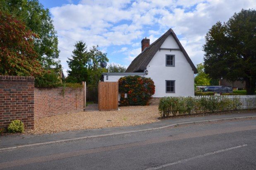
[[[149,42],[147,38],[141,40],[141,54],[125,72],[105,72],[101,80],[117,82],[120,77],[139,75],[153,79],[153,98],[194,95],[197,70],[173,30],[169,29],[152,44]]]

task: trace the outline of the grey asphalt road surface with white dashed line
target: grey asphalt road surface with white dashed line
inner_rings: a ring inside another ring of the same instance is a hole
[[[0,169],[256,169],[256,119],[8,149]]]

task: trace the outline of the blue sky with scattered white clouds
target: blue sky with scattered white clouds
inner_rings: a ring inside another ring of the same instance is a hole
[[[74,44],[98,45],[109,63],[128,67],[141,53],[141,40],[157,40],[172,28],[194,65],[203,62],[202,46],[217,21],[226,22],[242,9],[256,9],[255,0],[39,0],[50,10],[57,31],[60,61],[67,76],[67,58]],[[108,63],[108,64],[109,64]]]

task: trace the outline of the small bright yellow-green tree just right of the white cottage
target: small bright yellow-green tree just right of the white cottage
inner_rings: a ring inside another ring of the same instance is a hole
[[[195,77],[195,84],[201,86],[208,86],[210,85],[211,79],[209,75],[204,72],[204,66],[202,63],[196,65],[196,69],[198,71],[197,76]]]

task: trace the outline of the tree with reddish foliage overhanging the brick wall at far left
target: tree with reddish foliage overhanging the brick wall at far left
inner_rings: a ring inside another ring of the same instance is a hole
[[[37,37],[22,21],[0,11],[0,74],[37,76],[43,70],[34,50]]]

